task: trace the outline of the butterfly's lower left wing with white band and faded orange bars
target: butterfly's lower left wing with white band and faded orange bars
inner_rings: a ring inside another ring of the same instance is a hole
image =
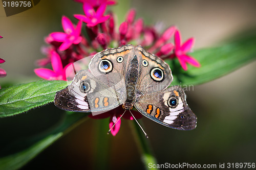
[[[102,80],[102,79],[101,79]],[[79,71],[73,82],[55,95],[55,106],[76,112],[111,110],[125,101],[114,85],[106,85],[87,70]]]

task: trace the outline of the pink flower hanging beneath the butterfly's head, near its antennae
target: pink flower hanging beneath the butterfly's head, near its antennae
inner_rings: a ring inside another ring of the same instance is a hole
[[[119,106],[119,107],[115,108],[114,110],[110,110],[108,112],[101,113],[101,114],[98,114],[98,115],[95,115],[95,116],[90,114],[89,117],[95,118],[95,119],[110,117],[109,128],[112,128],[112,126],[120,118],[120,116],[123,114],[123,112],[124,112],[124,110],[122,109],[122,106]],[[131,112],[132,112],[132,114],[134,115],[134,117],[136,119],[140,119],[142,117],[142,114],[140,114],[137,111],[131,110]],[[127,120],[133,120],[134,119],[129,111],[126,111],[124,113],[124,115],[122,116],[122,118],[127,119]],[[118,122],[116,123],[114,128],[112,128],[112,130],[111,130],[111,133],[112,133],[113,136],[116,136],[116,134],[118,133],[118,131],[120,129],[120,126],[121,126],[121,119],[118,120]]]

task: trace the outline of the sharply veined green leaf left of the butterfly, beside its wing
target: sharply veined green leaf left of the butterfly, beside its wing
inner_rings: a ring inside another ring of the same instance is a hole
[[[23,113],[53,102],[56,91],[66,86],[66,81],[36,81],[1,89],[0,117]]]

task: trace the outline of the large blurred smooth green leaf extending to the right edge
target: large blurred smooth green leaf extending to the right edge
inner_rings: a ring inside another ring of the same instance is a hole
[[[172,69],[172,85],[197,85],[217,79],[256,59],[256,33],[233,39],[219,47],[196,50],[190,56],[196,58],[201,67],[188,65],[184,71],[177,59],[166,62]]]

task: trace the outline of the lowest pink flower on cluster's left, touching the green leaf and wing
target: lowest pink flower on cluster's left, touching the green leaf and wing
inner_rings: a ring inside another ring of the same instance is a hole
[[[36,68],[34,69],[35,74],[38,77],[46,80],[65,80],[66,81],[67,80],[66,69],[72,63],[66,65],[63,68],[61,59],[55,51],[51,52],[51,63],[52,63],[53,70],[48,68]]]

